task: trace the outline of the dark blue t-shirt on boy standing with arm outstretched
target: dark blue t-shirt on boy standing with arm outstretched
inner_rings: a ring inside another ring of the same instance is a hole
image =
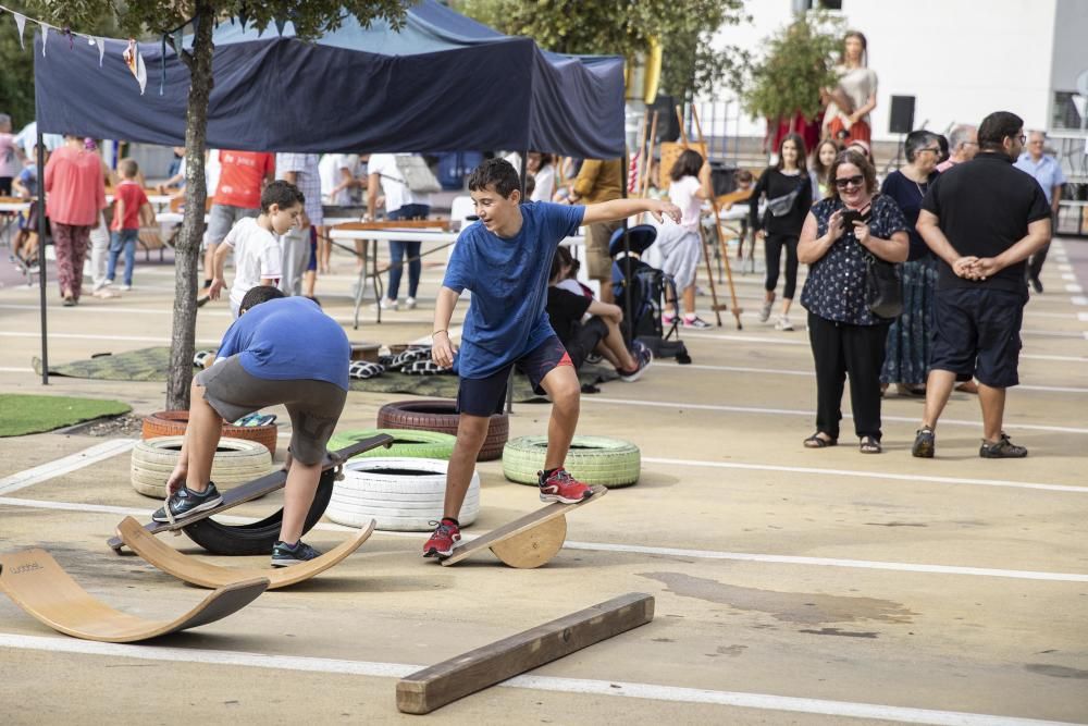
[[[461,378],[487,378],[555,335],[545,310],[552,257],[584,213],[534,201],[521,205],[521,230],[509,239],[480,222],[458,235],[442,285],[472,292],[457,354]]]

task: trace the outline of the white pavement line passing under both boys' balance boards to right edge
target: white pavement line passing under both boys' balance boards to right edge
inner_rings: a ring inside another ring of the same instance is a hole
[[[77,502],[49,502],[21,500],[0,496],[0,506],[15,506],[28,509],[54,509],[59,512],[79,512],[112,515],[150,516],[150,509],[131,509],[102,504],[82,504]],[[255,517],[217,516],[217,520],[227,525],[248,525],[257,521]],[[333,532],[353,532],[353,527],[319,522],[316,530]],[[407,539],[420,539],[418,532],[380,531],[379,536]],[[472,541],[481,534],[465,533],[465,541]],[[680,550],[676,547],[654,547],[634,544],[615,544],[610,542],[573,542],[567,541],[565,547],[585,550],[589,552],[627,552],[632,554],[650,554],[655,556],[687,557],[695,559],[730,559],[738,562],[757,562],[774,565],[802,565],[815,567],[848,567],[852,569],[878,569],[900,573],[925,573],[936,575],[968,575],[974,577],[1001,577],[1018,580],[1048,580],[1054,582],[1088,582],[1088,575],[1079,573],[1046,573],[1024,569],[994,569],[990,567],[961,567],[956,565],[925,565],[914,563],[880,562],[873,559],[842,559],[838,557],[802,557],[794,555],[771,555],[751,552],[718,552],[715,550]]]

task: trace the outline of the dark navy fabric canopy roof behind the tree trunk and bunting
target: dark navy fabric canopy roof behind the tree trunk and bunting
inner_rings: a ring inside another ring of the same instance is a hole
[[[434,0],[394,32],[348,14],[313,42],[275,27],[221,23],[213,38],[208,146],[261,151],[536,149],[607,159],[623,155],[623,61],[558,56],[502,35]],[[122,51],[53,36],[35,39],[42,132],[181,146],[189,73],[161,45],[141,45],[144,96]],[[186,40],[186,46],[190,42]]]

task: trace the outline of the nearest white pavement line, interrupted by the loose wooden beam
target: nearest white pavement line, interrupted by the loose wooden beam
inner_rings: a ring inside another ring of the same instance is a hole
[[[327,673],[368,676],[372,678],[404,678],[423,667],[407,663],[347,661],[302,655],[271,655],[245,651],[194,650],[169,645],[123,645],[118,643],[100,643],[90,640],[74,640],[72,638],[46,638],[7,632],[0,633],[0,645],[28,651],[72,653],[101,657],[127,657],[137,661],[200,663],[203,665],[269,668],[300,673]],[[906,724],[936,724],[938,726],[1066,726],[1068,724],[1068,722],[1015,718],[963,711],[937,711],[932,709],[882,705],[879,703],[854,703],[851,701],[831,701],[793,696],[717,691],[685,688],[682,686],[565,678],[559,676],[516,676],[509,680],[504,680],[496,687],[555,693],[635,698],[673,703],[704,703],[761,711],[788,711],[792,713],[895,721]]]

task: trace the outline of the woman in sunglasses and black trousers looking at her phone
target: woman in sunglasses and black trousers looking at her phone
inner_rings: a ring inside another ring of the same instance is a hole
[[[831,196],[808,212],[798,243],[798,258],[809,266],[801,304],[816,364],[816,432],[804,445],[838,443],[849,374],[861,452],[879,454],[880,367],[890,321],[869,311],[865,272],[869,256],[906,259],[907,224],[894,200],[876,195],[876,170],[857,151],[840,152],[828,176]]]

